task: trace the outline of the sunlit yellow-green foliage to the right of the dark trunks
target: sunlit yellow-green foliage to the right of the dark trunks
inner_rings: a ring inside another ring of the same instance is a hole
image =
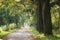
[[[59,31],[59,25],[60,25],[60,6],[59,5],[54,5],[53,7],[51,7],[51,19],[52,19],[52,25],[53,25],[53,29],[55,30],[55,32]]]

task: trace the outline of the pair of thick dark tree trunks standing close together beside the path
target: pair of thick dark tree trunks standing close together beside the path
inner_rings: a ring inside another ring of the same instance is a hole
[[[50,0],[37,1],[37,30],[39,32],[44,30],[45,35],[52,34],[52,23],[50,13]]]

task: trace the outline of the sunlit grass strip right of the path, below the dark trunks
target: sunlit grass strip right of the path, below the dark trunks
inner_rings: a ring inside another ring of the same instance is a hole
[[[53,33],[53,35],[44,36],[43,33],[37,32],[35,27],[30,27],[28,31],[30,31],[35,38],[39,38],[39,40],[60,40],[60,34]]]

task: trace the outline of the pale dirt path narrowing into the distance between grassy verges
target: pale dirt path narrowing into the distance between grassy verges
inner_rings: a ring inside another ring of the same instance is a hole
[[[26,28],[17,30],[11,34],[8,34],[3,40],[34,40],[31,33]]]

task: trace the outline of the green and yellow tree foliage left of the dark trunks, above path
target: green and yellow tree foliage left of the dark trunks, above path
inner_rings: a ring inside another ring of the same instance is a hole
[[[26,21],[35,21],[36,3],[31,0],[0,0],[0,26],[11,23],[16,24],[16,28],[21,27]]]

